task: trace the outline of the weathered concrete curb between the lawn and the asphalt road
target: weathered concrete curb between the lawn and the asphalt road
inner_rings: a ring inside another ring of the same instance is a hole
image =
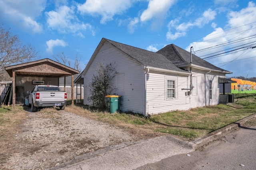
[[[201,147],[202,145],[205,145],[205,144],[209,143],[210,141],[213,141],[214,139],[218,139],[219,137],[222,137],[223,134],[225,134],[229,131],[232,131],[234,129],[237,129],[238,127],[241,127],[244,123],[246,123],[246,121],[253,119],[254,117],[256,117],[256,113],[253,115],[250,115],[248,117],[245,117],[244,119],[236,121],[235,123],[232,123],[230,125],[222,127],[212,133],[209,133],[208,135],[206,135],[202,138],[196,139],[192,143],[196,144],[196,148]]]

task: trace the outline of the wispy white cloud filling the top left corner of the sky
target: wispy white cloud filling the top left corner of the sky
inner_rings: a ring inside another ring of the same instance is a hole
[[[36,22],[46,8],[47,0],[8,0],[0,1],[0,19],[8,20],[22,29],[42,32],[42,25]]]

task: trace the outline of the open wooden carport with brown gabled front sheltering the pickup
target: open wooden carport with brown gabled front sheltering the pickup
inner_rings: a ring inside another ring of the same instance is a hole
[[[72,105],[74,105],[74,74],[79,71],[50,59],[42,59],[24,64],[5,67],[6,72],[12,77],[12,109],[16,104],[16,89],[22,87],[21,94],[32,90],[37,84],[59,86],[59,78],[64,77],[64,90],[66,90],[66,76],[72,76]]]

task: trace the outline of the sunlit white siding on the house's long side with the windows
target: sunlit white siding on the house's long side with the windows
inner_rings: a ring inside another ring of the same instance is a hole
[[[147,114],[158,114],[174,110],[188,110],[195,107],[206,105],[216,105],[219,102],[219,88],[217,74],[206,74],[206,100],[205,100],[205,81],[203,72],[192,72],[192,82],[194,89],[190,96],[186,96],[182,90],[190,88],[190,76],[167,74],[163,72],[150,71],[147,74],[146,84],[146,112]],[[175,80],[175,95],[173,99],[166,98],[166,82]],[[209,100],[209,80],[212,80],[212,99]]]

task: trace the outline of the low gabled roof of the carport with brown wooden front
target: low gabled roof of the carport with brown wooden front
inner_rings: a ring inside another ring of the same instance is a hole
[[[78,74],[79,71],[50,59],[42,59],[24,64],[6,66],[6,72],[12,77],[12,72],[17,76],[40,76],[40,77],[64,77]]]

